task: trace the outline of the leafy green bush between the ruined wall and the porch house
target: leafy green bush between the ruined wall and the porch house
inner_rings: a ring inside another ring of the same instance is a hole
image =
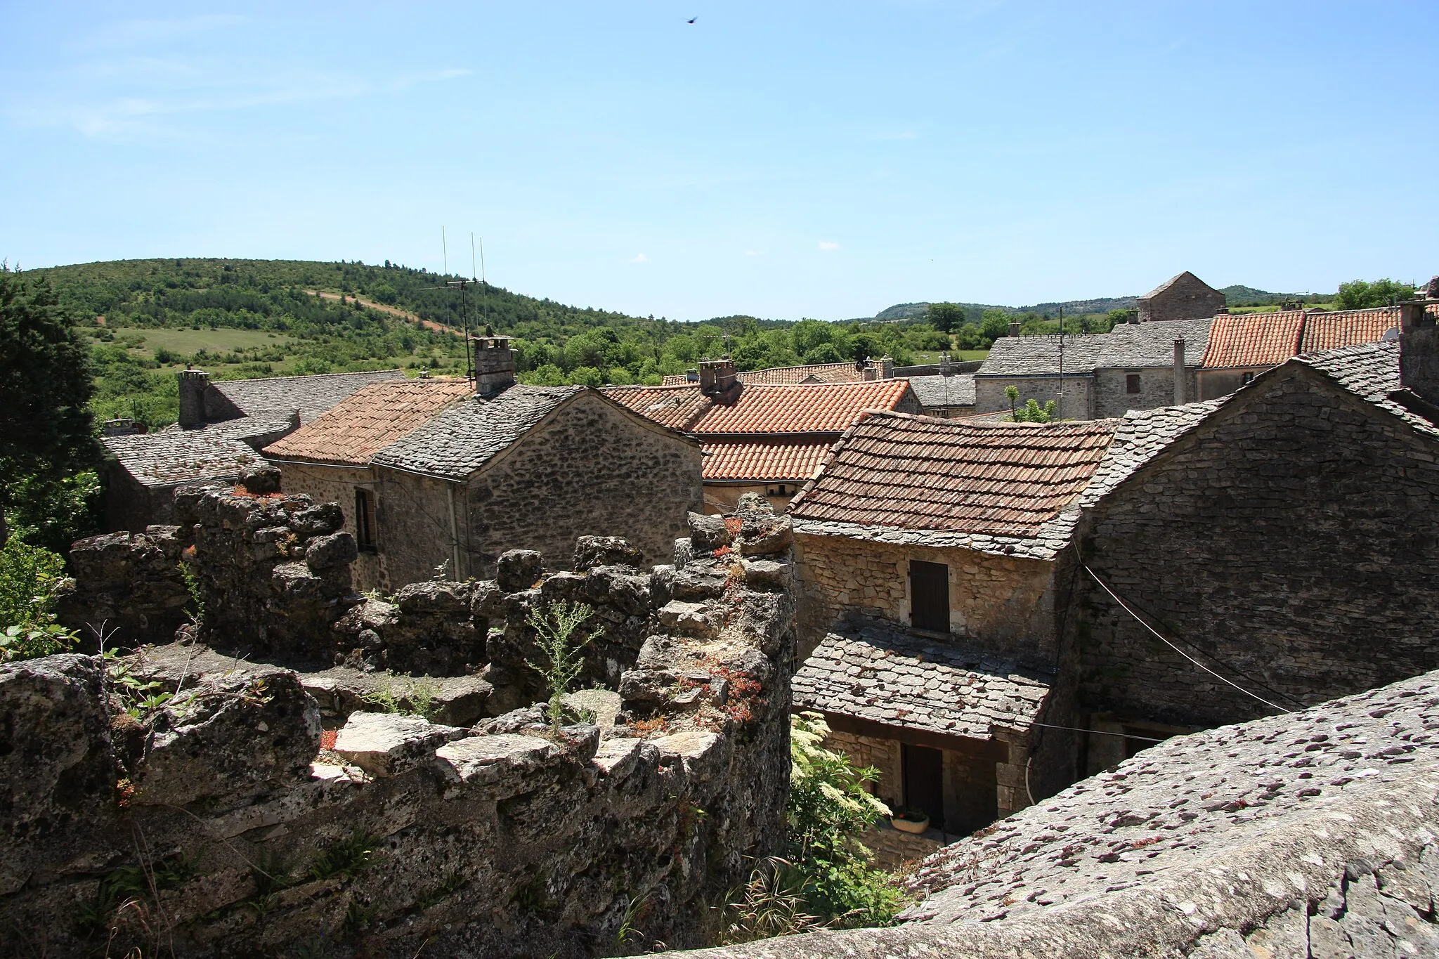
[[[873,768],[825,749],[819,713],[790,717],[786,855],[755,864],[728,897],[721,940],[750,942],[820,926],[888,926],[905,906],[895,877],[871,864],[859,837],[889,808],[869,794]]]

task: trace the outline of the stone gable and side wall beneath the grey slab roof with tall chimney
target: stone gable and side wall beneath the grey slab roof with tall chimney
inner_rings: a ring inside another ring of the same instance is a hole
[[[698,444],[584,395],[465,485],[378,467],[387,581],[455,566],[456,539],[458,579],[492,577],[507,549],[538,551],[560,568],[581,535],[623,536],[649,562],[663,559],[685,512],[702,509],[699,459]]]

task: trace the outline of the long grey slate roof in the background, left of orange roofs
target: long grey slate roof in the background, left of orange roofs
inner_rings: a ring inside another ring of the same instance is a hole
[[[1209,328],[1213,322],[1213,319],[1176,319],[1158,324],[1120,324],[1107,334],[1066,335],[1065,375],[1084,377],[1101,367],[1171,367],[1176,336],[1184,338],[1184,365],[1199,367],[1209,347]],[[1059,336],[1002,336],[994,341],[979,375],[1056,377]]]

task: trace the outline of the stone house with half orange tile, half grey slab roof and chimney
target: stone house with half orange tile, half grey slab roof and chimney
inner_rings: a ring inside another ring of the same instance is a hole
[[[668,556],[701,509],[699,443],[589,387],[514,384],[505,336],[473,345],[475,385],[377,385],[265,450],[286,492],[341,503],[357,587],[486,578],[507,549],[560,569],[581,535]]]

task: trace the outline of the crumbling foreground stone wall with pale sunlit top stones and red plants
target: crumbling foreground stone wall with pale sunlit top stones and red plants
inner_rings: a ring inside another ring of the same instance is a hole
[[[255,516],[213,506],[236,528]],[[609,610],[640,604],[617,690],[570,700],[617,712],[558,730],[528,705],[468,729],[355,712],[322,751],[317,702],[279,667],[229,660],[196,676],[186,654],[164,669],[135,657],[137,680],[174,694],[138,716],[98,659],[0,667],[0,927],[47,956],[702,945],[712,906],[783,844],[789,784],[789,526],[773,513],[734,525],[735,539],[684,541],[681,564],[653,574],[612,562],[633,551],[609,541],[581,543],[584,574],[544,577],[521,554],[499,564],[504,582],[422,584],[469,585],[471,607],[499,610],[511,673],[532,654],[531,608],[594,584]],[[440,597],[426,602],[443,618]],[[616,654],[603,628],[593,643]]]

